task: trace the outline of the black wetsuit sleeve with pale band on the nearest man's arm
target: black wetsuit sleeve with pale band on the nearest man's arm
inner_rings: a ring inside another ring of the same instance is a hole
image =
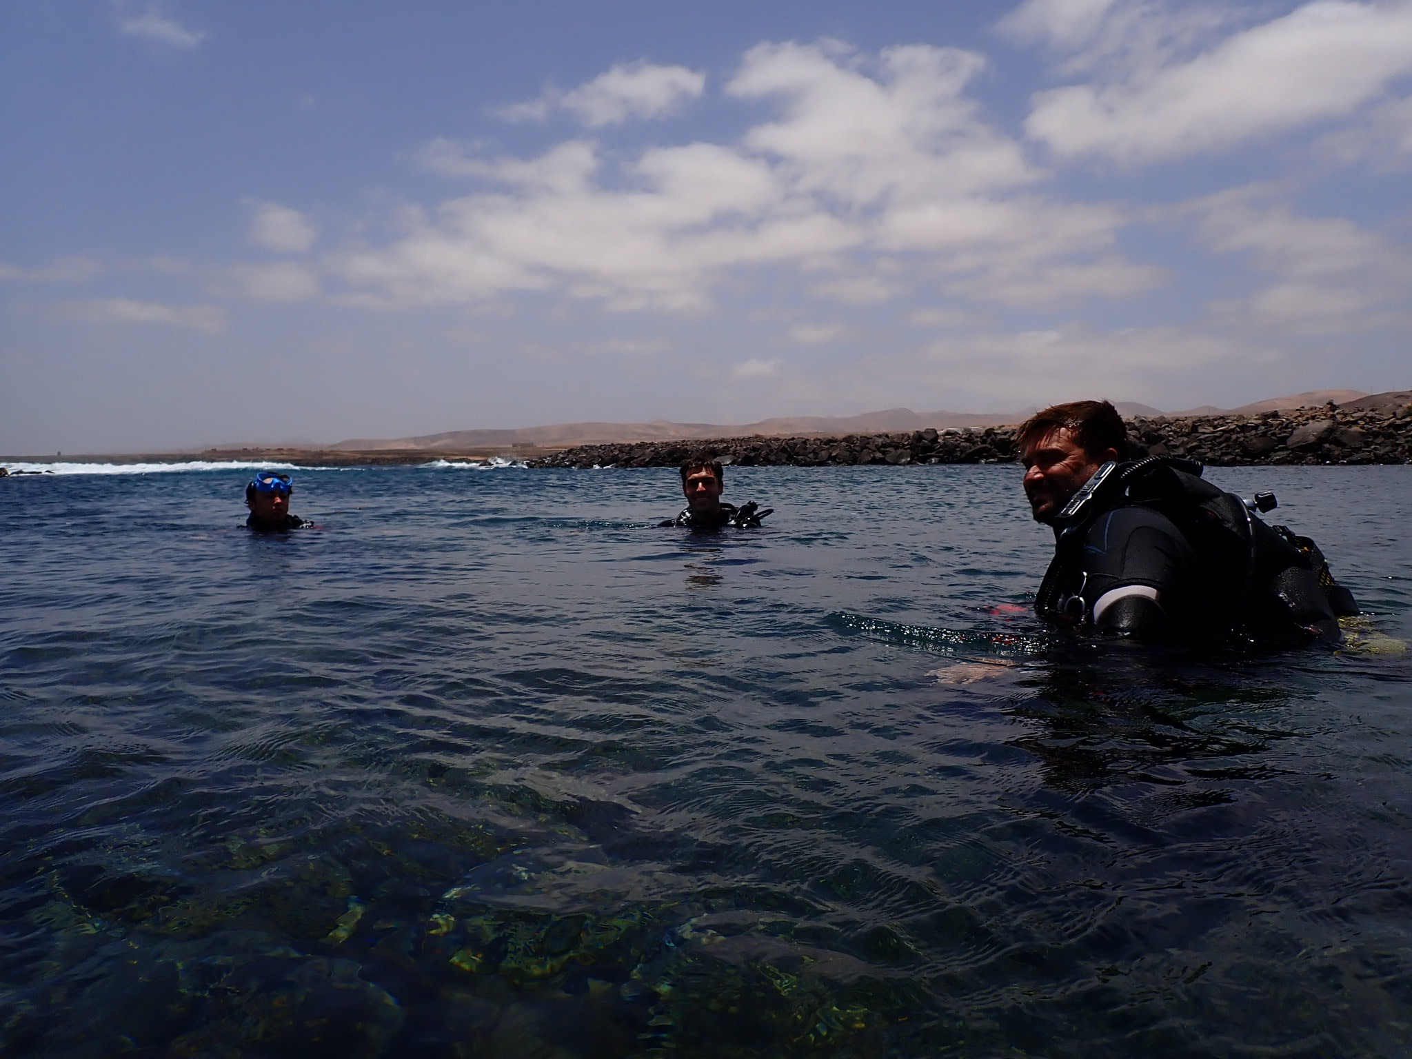
[[[1120,507],[1099,515],[1079,556],[1084,616],[1100,631],[1165,640],[1192,618],[1200,569],[1165,515]]]

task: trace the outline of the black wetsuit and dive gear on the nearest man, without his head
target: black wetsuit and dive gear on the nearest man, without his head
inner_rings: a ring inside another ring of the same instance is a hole
[[[1125,481],[1094,496],[1096,513],[1056,522],[1041,617],[1148,641],[1339,640],[1324,582],[1339,586],[1313,542],[1248,514],[1202,480],[1199,465],[1120,465],[1130,466]]]

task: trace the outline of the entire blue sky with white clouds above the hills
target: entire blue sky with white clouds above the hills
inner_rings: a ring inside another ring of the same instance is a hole
[[[1412,385],[1412,3],[0,11],[0,452]]]

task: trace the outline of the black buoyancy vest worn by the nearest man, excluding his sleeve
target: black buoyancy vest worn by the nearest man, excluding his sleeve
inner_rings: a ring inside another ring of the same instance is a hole
[[[1272,493],[1245,501],[1203,480],[1202,470],[1195,460],[1148,456],[1094,472],[1053,521],[1055,558],[1035,597],[1039,616],[1066,617],[1093,521],[1115,507],[1142,505],[1171,520],[1200,561],[1200,628],[1193,631],[1269,644],[1337,641],[1337,617],[1357,614],[1358,606],[1319,546],[1255,514],[1276,507]]]

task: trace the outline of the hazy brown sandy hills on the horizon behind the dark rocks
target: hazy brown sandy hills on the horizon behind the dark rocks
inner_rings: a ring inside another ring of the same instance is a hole
[[[1162,412],[1151,405],[1132,401],[1118,401],[1117,408],[1127,417],[1152,415],[1254,415],[1257,412],[1286,411],[1354,401],[1372,401],[1387,397],[1399,404],[1406,402],[1404,391],[1378,394],[1372,398],[1360,390],[1310,390],[1288,397],[1271,397],[1265,401],[1241,405],[1240,408],[1189,408],[1183,412]],[[1401,397],[1401,401],[1396,398]],[[846,433],[897,433],[901,431],[922,431],[928,426],[946,429],[955,426],[1003,426],[1021,422],[1025,412],[914,412],[911,408],[885,408],[880,412],[861,415],[796,415],[775,417],[747,424],[706,422],[568,422],[551,426],[522,426],[504,431],[445,431],[424,433],[415,438],[350,438],[332,449],[343,452],[395,452],[417,449],[422,452],[463,452],[467,449],[494,448],[548,448],[559,449],[573,445],[611,445],[637,441],[692,441],[707,438],[746,438],[761,433],[767,436],[798,435],[846,435]]]

